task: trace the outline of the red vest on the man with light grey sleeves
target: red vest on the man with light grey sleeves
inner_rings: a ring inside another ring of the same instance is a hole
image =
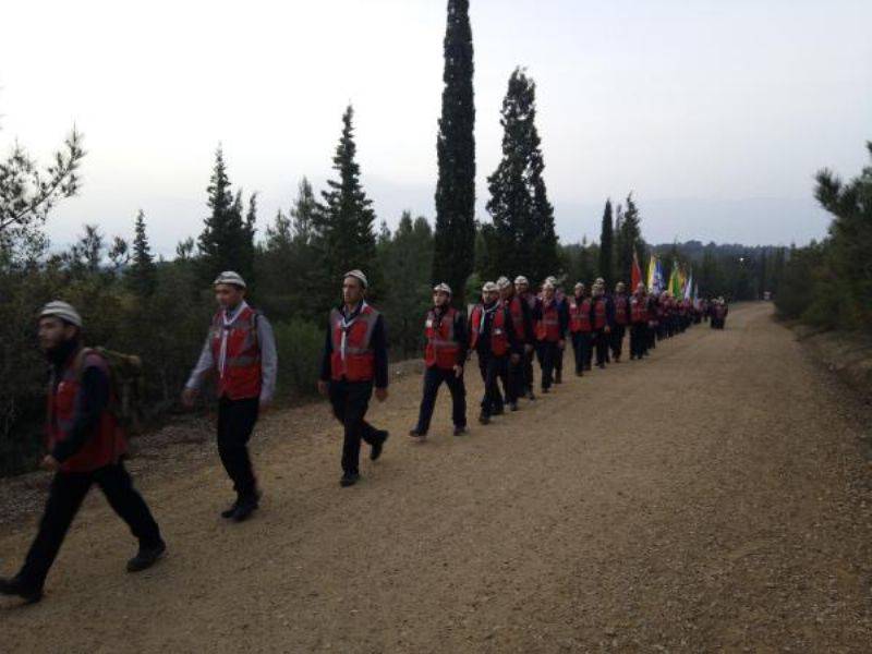
[[[245,306],[230,325],[223,312],[211,323],[211,355],[218,368],[218,397],[244,400],[261,397],[261,344],[257,342],[257,313]],[[225,365],[221,370],[221,338],[227,332]]]

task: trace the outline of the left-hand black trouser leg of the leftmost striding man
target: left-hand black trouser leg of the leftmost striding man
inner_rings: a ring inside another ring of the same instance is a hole
[[[89,473],[58,472],[51,481],[46,509],[39,522],[19,579],[32,589],[41,589],[60,552],[63,538],[73,522],[93,479]]]

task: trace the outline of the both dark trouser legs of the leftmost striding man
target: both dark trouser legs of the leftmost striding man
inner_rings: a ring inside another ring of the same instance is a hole
[[[58,472],[51,481],[46,509],[19,578],[29,588],[41,589],[73,518],[90,486],[97,484],[109,506],[128,523],[143,547],[160,543],[160,530],[123,463],[94,472]]]

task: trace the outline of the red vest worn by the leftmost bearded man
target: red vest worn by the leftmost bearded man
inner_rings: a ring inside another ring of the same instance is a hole
[[[57,388],[55,387],[57,379],[52,377],[48,390],[49,451],[56,444],[70,437],[70,431],[75,420],[82,373],[89,367],[101,370],[107,378],[111,379],[109,366],[104,358],[89,350],[80,350],[70,359],[61,373]],[[109,392],[114,393],[114,389],[110,388]],[[85,441],[81,450],[61,464],[61,470],[64,472],[90,472],[110,463],[118,463],[119,458],[126,449],[126,440],[118,421],[114,415],[105,410],[97,423],[96,434]]]

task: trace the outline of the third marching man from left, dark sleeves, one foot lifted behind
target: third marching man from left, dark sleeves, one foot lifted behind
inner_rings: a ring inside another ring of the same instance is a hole
[[[366,300],[368,282],[361,270],[342,278],[342,304],[330,312],[320,365],[318,392],[327,396],[334,415],[344,427],[342,479],[353,486],[360,480],[361,440],[370,445],[370,459],[378,460],[388,433],[366,422],[373,396],[388,398],[388,352],[385,320]]]

